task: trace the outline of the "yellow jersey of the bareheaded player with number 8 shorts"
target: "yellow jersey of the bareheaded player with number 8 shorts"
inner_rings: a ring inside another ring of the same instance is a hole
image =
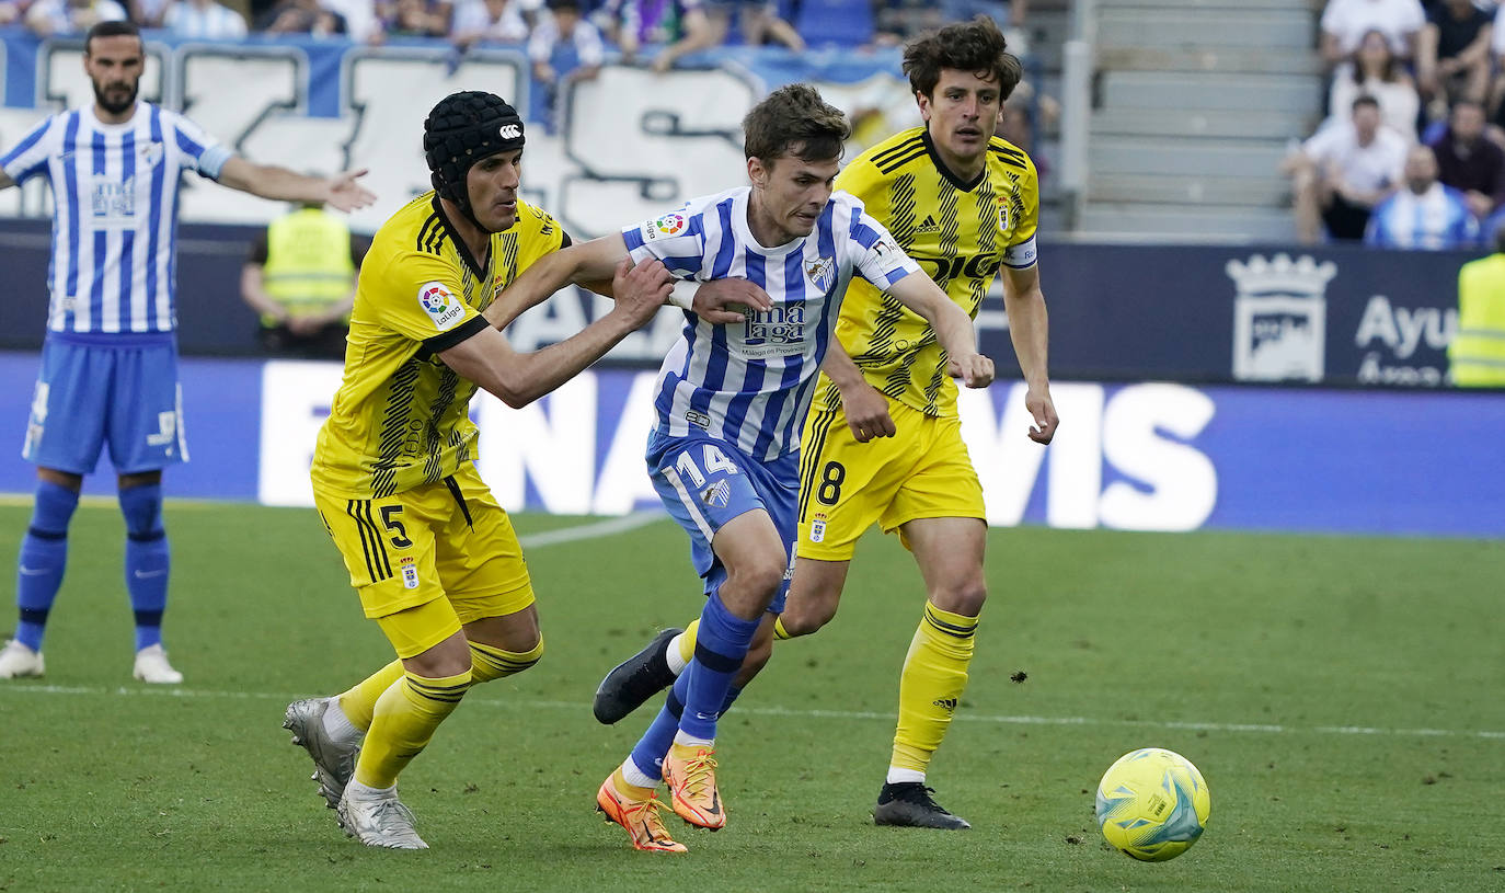
[[[898,247],[974,319],[999,265],[1035,262],[1040,179],[1029,157],[993,137],[987,164],[971,184],[951,173],[926,128],[906,130],[862,152],[837,176],[862,200]],[[852,280],[837,337],[868,384],[927,416],[956,417],[956,382],[947,352],[923,316],[865,280]],[[840,404],[829,378],[816,408]]]

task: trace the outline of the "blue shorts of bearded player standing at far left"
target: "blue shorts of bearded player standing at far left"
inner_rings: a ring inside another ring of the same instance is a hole
[[[188,461],[172,336],[47,337],[21,455],[90,474],[105,443],[120,474]]]

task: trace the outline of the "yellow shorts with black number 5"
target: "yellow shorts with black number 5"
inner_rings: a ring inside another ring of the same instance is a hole
[[[385,498],[315,491],[313,501],[361,608],[399,657],[533,604],[518,533],[474,465]]]

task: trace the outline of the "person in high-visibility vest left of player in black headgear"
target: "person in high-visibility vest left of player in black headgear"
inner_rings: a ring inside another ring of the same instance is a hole
[[[319,202],[271,221],[241,268],[241,298],[260,315],[260,342],[269,354],[345,357],[366,248],[345,218]]]

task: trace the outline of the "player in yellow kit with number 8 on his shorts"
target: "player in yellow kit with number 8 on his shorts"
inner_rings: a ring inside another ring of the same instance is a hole
[[[837,178],[862,200],[953,301],[975,318],[993,276],[1034,419],[1050,443],[1058,423],[1046,373],[1046,307],[1035,267],[1038,182],[1028,155],[993,137],[1019,60],[986,18],[905,47],[905,74],[924,126],[873,146]],[[935,331],[891,297],[853,283],[805,420],[799,542],[789,601],[774,635],[805,635],[835,616],[856,539],[877,523],[897,532],[926,580],[927,601],[898,684],[898,729],[873,818],[880,825],[966,828],[930,797],[926,773],[966,687],[987,598],[987,524],[977,471],[962,443],[956,382]],[[695,628],[665,631],[616,667],[596,693],[614,723],[673,681],[694,654]],[[756,642],[745,685],[771,654]]]

